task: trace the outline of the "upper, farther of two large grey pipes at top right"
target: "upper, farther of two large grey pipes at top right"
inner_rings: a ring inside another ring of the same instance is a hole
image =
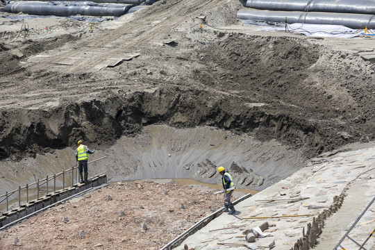
[[[374,0],[244,0],[243,5],[260,10],[375,13]]]

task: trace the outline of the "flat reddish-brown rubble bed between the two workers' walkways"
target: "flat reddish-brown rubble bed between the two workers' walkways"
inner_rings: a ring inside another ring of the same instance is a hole
[[[160,249],[221,207],[222,194],[187,185],[116,183],[1,231],[0,246],[3,250]]]

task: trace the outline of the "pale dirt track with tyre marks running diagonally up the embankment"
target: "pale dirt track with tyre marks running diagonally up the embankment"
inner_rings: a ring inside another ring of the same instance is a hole
[[[30,72],[44,72],[56,64],[56,58],[69,58],[81,56],[81,60],[74,65],[63,69],[71,74],[82,72],[94,72],[95,66],[103,58],[111,58],[121,55],[124,51],[138,51],[141,47],[152,47],[151,42],[160,39],[160,36],[172,32],[172,28],[190,21],[191,17],[209,10],[214,6],[225,3],[225,1],[161,1],[156,6],[151,6],[134,19],[117,28],[115,31],[106,31],[104,35],[97,35],[92,40],[81,40],[73,44],[67,44],[63,49],[48,51],[49,58],[38,60],[38,63],[28,65]],[[183,11],[181,11],[183,10]],[[156,23],[156,21],[159,21]],[[73,47],[73,48],[72,48]],[[79,48],[79,51],[76,49]],[[85,56],[87,54],[87,56]],[[60,72],[56,67],[53,71]]]

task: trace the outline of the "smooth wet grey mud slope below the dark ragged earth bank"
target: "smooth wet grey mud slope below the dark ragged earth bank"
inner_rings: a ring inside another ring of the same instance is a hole
[[[95,149],[90,160],[108,158],[90,164],[90,176],[106,172],[111,181],[192,178],[219,183],[217,167],[224,165],[235,176],[238,188],[262,190],[303,165],[301,153],[275,140],[260,142],[210,126],[177,129],[149,125],[142,133],[122,136],[107,148]],[[32,183],[75,164],[73,148],[36,154],[16,163],[3,160],[1,177],[8,181],[1,182],[0,190],[15,189],[17,183]],[[61,181],[57,184],[62,185]]]

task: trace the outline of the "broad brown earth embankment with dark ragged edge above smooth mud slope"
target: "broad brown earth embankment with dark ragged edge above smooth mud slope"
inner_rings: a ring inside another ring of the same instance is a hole
[[[300,153],[295,165],[374,139],[372,63],[319,40],[219,28],[237,24],[238,8],[234,0],[160,1],[115,29],[113,21],[93,33],[40,40],[35,29],[34,40],[4,39],[1,158],[79,139],[106,149],[152,124],[276,140]],[[199,28],[202,15],[208,25]],[[108,58],[119,62],[105,65]]]

